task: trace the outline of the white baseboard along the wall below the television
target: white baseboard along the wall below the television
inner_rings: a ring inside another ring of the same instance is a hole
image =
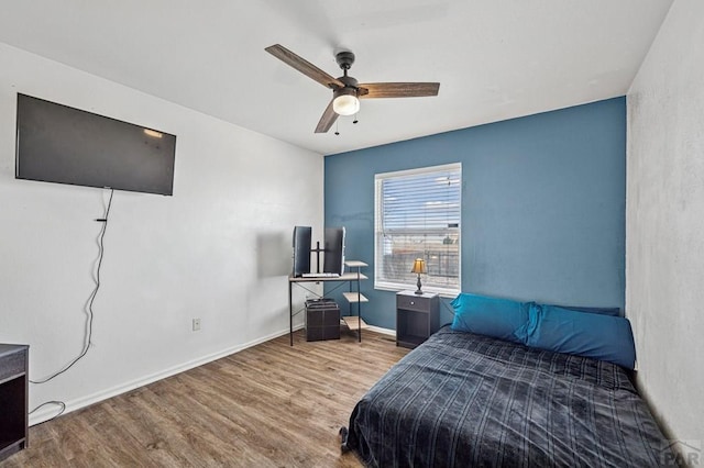
[[[302,328],[302,325],[298,325],[296,327],[294,327],[294,331],[300,330]],[[202,356],[198,359],[193,359],[189,360],[187,363],[183,363],[179,364],[177,366],[170,367],[168,369],[148,375],[148,376],[144,376],[142,378],[139,378],[136,380],[132,380],[130,382],[125,382],[123,385],[117,386],[117,387],[112,387],[110,389],[107,390],[102,390],[86,397],[81,397],[81,398],[77,398],[75,400],[70,400],[70,401],[65,401],[64,403],[66,404],[66,410],[64,411],[63,414],[66,413],[70,413],[73,411],[76,410],[80,410],[81,408],[86,408],[89,406],[91,404],[98,403],[102,400],[107,400],[109,398],[112,397],[117,397],[121,393],[125,393],[130,390],[134,390],[136,388],[140,387],[144,387],[146,385],[153,383],[157,380],[162,380],[165,379],[167,377],[172,377],[175,376],[177,374],[184,372],[188,369],[193,369],[194,367],[198,367],[198,366],[202,366],[204,364],[208,364],[211,363],[213,360],[220,359],[222,357],[226,356],[230,356],[232,354],[239,353],[243,349],[250,348],[252,346],[258,345],[260,343],[264,343],[264,342],[268,342],[270,339],[273,338],[277,338],[282,335],[286,335],[288,334],[288,330],[285,331],[279,331],[279,332],[275,332],[272,333],[270,335],[266,336],[262,336],[261,338],[251,341],[249,343],[244,343],[241,345],[237,345],[237,346],[232,346],[229,347],[227,349],[222,349],[218,353],[212,353],[210,355],[207,356]],[[35,413],[30,414],[30,425],[33,426],[35,424],[41,424],[45,421],[51,420],[52,417],[54,417],[56,415],[56,413],[58,412],[58,408],[56,405],[51,405],[47,404],[44,409],[42,410],[37,410]]]

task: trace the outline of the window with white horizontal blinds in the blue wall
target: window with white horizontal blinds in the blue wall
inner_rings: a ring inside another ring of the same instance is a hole
[[[375,176],[374,288],[415,290],[422,258],[424,291],[460,291],[461,180],[460,164]]]

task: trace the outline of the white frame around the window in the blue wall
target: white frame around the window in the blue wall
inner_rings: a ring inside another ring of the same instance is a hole
[[[462,163],[452,163],[439,166],[427,166],[419,167],[414,169],[405,169],[405,170],[396,170],[389,172],[380,172],[374,175],[374,289],[377,290],[386,290],[386,291],[402,291],[402,290],[416,290],[417,289],[417,277],[414,276],[413,281],[397,281],[397,280],[387,280],[380,279],[382,275],[380,271],[384,268],[384,252],[382,248],[383,236],[384,236],[384,227],[383,227],[383,181],[394,178],[404,178],[410,176],[418,175],[432,175],[433,172],[448,172],[448,171],[457,171],[459,172],[459,185],[460,185],[460,197],[459,197],[459,225],[457,227],[457,244],[458,244],[458,287],[455,288],[443,288],[438,286],[426,285],[424,277],[421,275],[422,291],[438,293],[442,297],[453,298],[460,293],[462,289]],[[408,231],[414,231],[414,229],[408,227]],[[403,231],[403,230],[402,230]],[[427,232],[443,232],[447,233],[448,229],[432,229],[429,227],[424,230]],[[408,269],[410,271],[411,264],[408,265]]]

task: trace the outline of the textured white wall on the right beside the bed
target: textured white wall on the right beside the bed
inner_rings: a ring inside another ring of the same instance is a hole
[[[628,91],[626,315],[639,383],[704,448],[704,2],[676,0]]]

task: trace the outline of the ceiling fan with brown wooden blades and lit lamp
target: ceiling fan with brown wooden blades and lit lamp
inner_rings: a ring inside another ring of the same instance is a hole
[[[348,76],[348,70],[354,64],[354,54],[340,52],[336,62],[342,68],[343,76],[333,78],[310,62],[294,54],[280,44],[265,48],[274,57],[294,67],[301,74],[332,89],[332,100],[326,108],[316,133],[326,133],[338,115],[352,115],[360,110],[360,99],[376,98],[416,98],[438,96],[439,82],[367,82],[360,85],[356,79]]]

